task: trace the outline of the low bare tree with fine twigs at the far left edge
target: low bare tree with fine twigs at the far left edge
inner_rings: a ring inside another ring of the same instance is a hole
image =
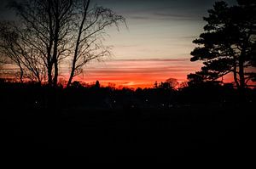
[[[38,57],[38,50],[24,41],[24,34],[14,23],[2,22],[0,31],[0,53],[3,64],[16,65],[19,79],[24,78],[41,83],[44,79],[44,64]]]

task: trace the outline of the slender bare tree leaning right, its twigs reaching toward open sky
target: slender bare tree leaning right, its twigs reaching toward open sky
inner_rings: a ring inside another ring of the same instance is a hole
[[[90,0],[83,0],[77,4],[78,14],[76,16],[74,35],[73,62],[67,87],[70,86],[73,77],[79,75],[83,66],[90,60],[100,60],[109,56],[108,47],[102,44],[105,29],[108,26],[116,25],[119,22],[125,23],[125,18],[115,14],[109,8],[94,6],[90,8]],[[79,19],[79,20],[78,20]]]

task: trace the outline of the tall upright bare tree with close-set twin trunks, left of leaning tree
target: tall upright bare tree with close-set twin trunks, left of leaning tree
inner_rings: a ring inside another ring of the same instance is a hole
[[[56,86],[59,63],[70,53],[67,42],[72,30],[73,0],[26,0],[10,3],[10,7],[20,19],[26,47],[37,49],[47,70],[49,85]]]

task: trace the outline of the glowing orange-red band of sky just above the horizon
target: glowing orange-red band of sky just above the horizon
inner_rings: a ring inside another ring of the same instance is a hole
[[[177,82],[187,81],[187,75],[200,68],[200,63],[191,63],[189,59],[113,59],[89,65],[73,81],[89,84],[99,81],[103,86],[111,83],[115,87],[154,87],[154,82],[166,82],[171,77]]]

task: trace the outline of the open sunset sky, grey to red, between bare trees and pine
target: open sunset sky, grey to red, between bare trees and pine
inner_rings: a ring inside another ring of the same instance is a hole
[[[192,41],[203,31],[207,9],[215,0],[92,0],[125,17],[128,29],[120,25],[108,30],[104,42],[113,47],[113,56],[104,62],[93,62],[76,77],[84,82],[115,83],[117,86],[153,87],[172,77],[178,82],[189,73],[200,70],[199,62],[191,63]],[[235,4],[235,0],[226,1]],[[1,4],[0,17],[14,14]],[[63,72],[62,72],[63,74]],[[65,73],[64,73],[65,74]]]

